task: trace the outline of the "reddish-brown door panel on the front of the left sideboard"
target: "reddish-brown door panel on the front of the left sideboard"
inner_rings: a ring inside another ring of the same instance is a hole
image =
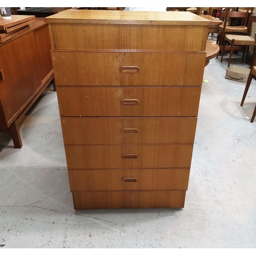
[[[1,104],[9,126],[41,84],[33,33],[1,46],[0,55],[5,74],[0,83]]]

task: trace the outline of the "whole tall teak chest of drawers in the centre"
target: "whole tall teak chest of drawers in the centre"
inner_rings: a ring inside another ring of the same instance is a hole
[[[88,10],[46,21],[75,209],[184,207],[210,22]]]

